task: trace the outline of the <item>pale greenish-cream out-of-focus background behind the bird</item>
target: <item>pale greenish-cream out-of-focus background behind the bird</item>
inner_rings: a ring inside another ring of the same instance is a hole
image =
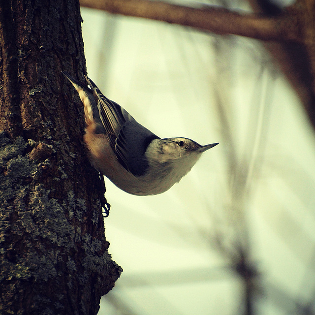
[[[253,314],[314,314],[314,131],[263,45],[81,10],[104,95],[162,138],[220,142],[161,195],[105,179],[106,239],[124,272],[99,315],[244,314],[240,248],[259,273]]]

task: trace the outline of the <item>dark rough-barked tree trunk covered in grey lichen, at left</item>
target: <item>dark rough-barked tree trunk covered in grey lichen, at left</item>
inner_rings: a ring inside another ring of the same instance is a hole
[[[86,72],[78,0],[0,0],[0,314],[96,314],[122,269],[61,74]]]

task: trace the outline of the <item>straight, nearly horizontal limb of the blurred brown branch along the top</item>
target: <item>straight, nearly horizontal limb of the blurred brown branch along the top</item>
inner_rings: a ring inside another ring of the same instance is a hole
[[[261,40],[301,40],[299,30],[290,27],[291,15],[274,18],[259,14],[239,14],[222,7],[190,7],[151,0],[80,0],[80,5],[218,34],[234,34]]]

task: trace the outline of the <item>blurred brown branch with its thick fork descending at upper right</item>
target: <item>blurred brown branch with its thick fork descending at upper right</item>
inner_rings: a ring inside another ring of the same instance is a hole
[[[80,0],[82,6],[111,13],[265,41],[300,96],[315,128],[315,0],[299,0],[284,9],[269,5],[268,0],[250,2],[256,9],[254,14],[151,0]]]

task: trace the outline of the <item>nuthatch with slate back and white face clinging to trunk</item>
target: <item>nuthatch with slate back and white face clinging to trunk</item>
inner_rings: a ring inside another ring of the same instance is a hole
[[[102,95],[87,76],[91,89],[62,72],[84,104],[84,140],[93,166],[128,193],[156,195],[170,189],[203,152],[218,144],[201,146],[187,138],[161,139]]]

